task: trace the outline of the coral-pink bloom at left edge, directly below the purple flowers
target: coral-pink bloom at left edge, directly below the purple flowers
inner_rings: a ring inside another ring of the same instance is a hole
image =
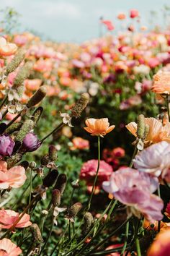
[[[0,161],[0,189],[21,187],[26,179],[24,167],[14,166],[7,170],[7,163]]]

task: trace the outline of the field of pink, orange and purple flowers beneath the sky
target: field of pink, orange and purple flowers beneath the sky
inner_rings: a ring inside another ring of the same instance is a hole
[[[169,94],[169,30],[1,31],[0,255],[169,255]]]

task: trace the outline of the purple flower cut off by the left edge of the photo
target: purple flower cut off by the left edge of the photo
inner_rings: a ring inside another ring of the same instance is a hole
[[[0,136],[0,155],[11,156],[14,149],[14,140],[9,135]]]

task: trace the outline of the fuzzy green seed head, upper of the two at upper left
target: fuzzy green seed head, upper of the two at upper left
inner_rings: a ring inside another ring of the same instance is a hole
[[[7,67],[6,67],[6,75],[12,73],[15,69],[17,69],[19,64],[24,59],[24,56],[25,56],[25,51],[23,49],[19,49],[19,51],[17,51],[17,54],[15,54],[14,58],[12,59],[12,61],[9,62],[9,64],[7,65]]]

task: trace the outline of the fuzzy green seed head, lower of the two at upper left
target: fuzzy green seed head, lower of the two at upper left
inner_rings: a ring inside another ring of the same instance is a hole
[[[24,80],[29,77],[31,68],[32,64],[30,62],[27,62],[23,67],[19,69],[19,72],[14,79],[14,85],[12,88],[17,89],[23,84]]]

